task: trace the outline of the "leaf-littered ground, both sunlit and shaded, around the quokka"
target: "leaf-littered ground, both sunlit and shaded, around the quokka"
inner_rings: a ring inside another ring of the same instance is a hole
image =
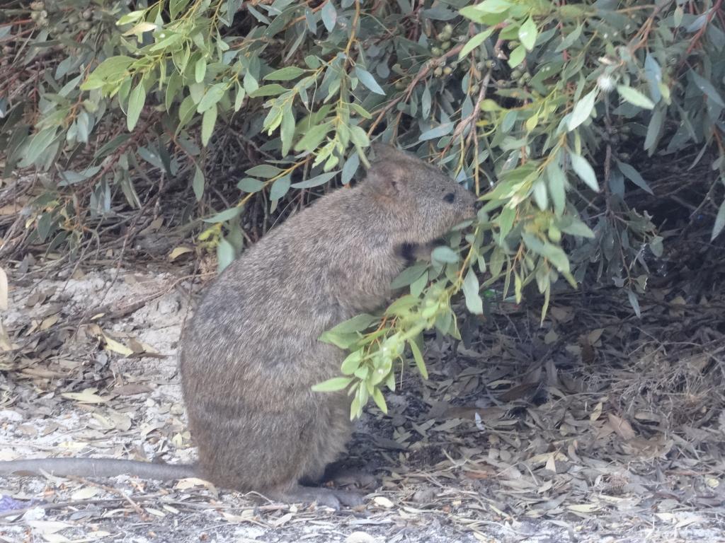
[[[10,274],[1,315],[0,459],[191,461],[175,354],[189,267]],[[349,464],[360,510],[175,484],[0,479],[6,542],[725,541],[725,295],[664,282],[642,319],[616,290],[502,304],[431,337],[368,407]]]

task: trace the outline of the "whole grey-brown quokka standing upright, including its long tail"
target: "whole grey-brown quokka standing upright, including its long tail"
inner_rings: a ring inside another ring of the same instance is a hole
[[[304,487],[349,439],[349,397],[312,392],[344,352],[322,332],[392,295],[408,261],[474,216],[473,195],[415,156],[376,146],[355,188],[323,196],[273,229],[212,283],[182,334],[179,367],[196,466],[98,458],[0,462],[0,473],[149,479],[196,475],[288,501],[353,505],[357,494]]]

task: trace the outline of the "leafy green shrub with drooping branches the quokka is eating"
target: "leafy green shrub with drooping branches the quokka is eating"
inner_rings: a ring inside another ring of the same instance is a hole
[[[351,354],[345,377],[319,389],[350,387],[353,415],[369,397],[385,409],[380,387],[394,387],[406,345],[425,375],[421,333],[457,336],[459,290],[483,313],[482,291],[513,287],[518,301],[536,285],[543,317],[560,278],[592,277],[626,289],[638,312],[642,255],[663,250],[631,206],[653,193],[638,163],[692,152],[723,180],[721,0],[9,4],[5,171],[53,174],[25,223],[34,240],[79,243],[89,216],[141,206],[139,177],[186,178],[210,201],[215,141],[232,126],[272,158],[240,176],[236,205],[205,219],[199,239],[220,266],[241,249],[252,199],[279,213],[299,191],[351,182],[371,137],[481,195],[477,224],[403,272],[396,286],[410,293],[382,320],[358,316],[323,337]],[[714,239],[725,203],[713,215]]]

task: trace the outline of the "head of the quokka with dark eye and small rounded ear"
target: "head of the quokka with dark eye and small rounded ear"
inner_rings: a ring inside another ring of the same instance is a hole
[[[409,243],[441,237],[456,224],[476,216],[476,197],[410,153],[373,143],[365,185],[399,219],[399,235]]]

